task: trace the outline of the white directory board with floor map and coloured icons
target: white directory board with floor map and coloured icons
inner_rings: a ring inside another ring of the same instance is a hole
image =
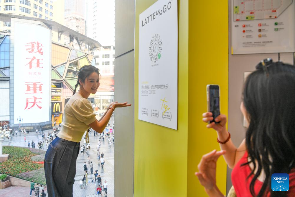
[[[295,52],[294,0],[232,0],[232,54]]]

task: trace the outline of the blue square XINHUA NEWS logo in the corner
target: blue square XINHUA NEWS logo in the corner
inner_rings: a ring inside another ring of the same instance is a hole
[[[271,189],[273,191],[288,191],[289,190],[289,175],[288,174],[272,174]]]

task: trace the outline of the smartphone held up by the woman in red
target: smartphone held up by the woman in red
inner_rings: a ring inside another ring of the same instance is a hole
[[[219,89],[219,85],[207,85],[207,112],[212,112],[213,114],[213,120],[209,121],[208,124],[215,122],[215,118],[220,115]]]

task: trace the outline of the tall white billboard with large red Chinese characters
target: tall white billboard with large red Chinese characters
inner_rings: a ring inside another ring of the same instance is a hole
[[[14,122],[50,121],[50,30],[14,22]]]

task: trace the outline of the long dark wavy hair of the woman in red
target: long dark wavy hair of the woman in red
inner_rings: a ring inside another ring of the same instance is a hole
[[[246,146],[254,165],[250,183],[252,196],[287,196],[287,192],[273,192],[271,175],[289,173],[295,166],[295,67],[282,62],[272,63],[267,70],[251,73],[243,92],[244,106],[250,121],[246,132]],[[255,164],[255,161],[257,164]],[[258,194],[255,182],[262,172],[266,179]]]

